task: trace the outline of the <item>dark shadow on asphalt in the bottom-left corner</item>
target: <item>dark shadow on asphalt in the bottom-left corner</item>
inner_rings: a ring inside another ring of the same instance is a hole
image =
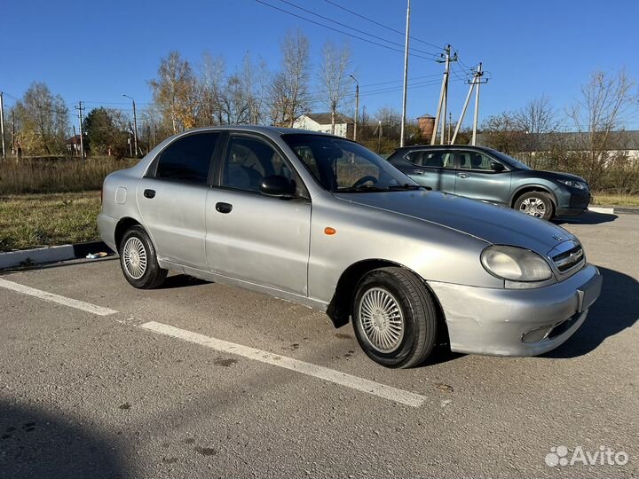
[[[0,476],[128,477],[114,442],[58,414],[0,399]]]

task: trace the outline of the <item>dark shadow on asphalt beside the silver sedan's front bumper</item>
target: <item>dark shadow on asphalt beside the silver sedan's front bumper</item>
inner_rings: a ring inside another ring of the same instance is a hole
[[[639,282],[619,271],[599,268],[604,277],[602,293],[590,307],[588,318],[572,337],[559,348],[541,357],[579,357],[596,349],[602,342],[635,325],[639,320]]]

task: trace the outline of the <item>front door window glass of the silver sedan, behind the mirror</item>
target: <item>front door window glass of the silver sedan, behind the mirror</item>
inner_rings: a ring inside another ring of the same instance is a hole
[[[296,183],[296,196],[307,196],[304,185],[271,145],[258,138],[231,137],[222,172],[222,186],[259,192],[264,177],[280,175]]]

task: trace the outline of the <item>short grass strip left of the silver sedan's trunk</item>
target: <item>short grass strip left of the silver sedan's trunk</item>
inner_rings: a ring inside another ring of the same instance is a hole
[[[99,192],[0,197],[0,251],[98,240]]]

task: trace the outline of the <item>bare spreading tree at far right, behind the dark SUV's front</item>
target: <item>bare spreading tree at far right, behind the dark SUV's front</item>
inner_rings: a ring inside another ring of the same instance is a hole
[[[619,135],[627,121],[635,114],[639,96],[635,83],[624,70],[616,74],[597,71],[581,87],[581,98],[568,110],[580,135],[580,169],[593,189],[596,189],[613,157],[619,150]]]

